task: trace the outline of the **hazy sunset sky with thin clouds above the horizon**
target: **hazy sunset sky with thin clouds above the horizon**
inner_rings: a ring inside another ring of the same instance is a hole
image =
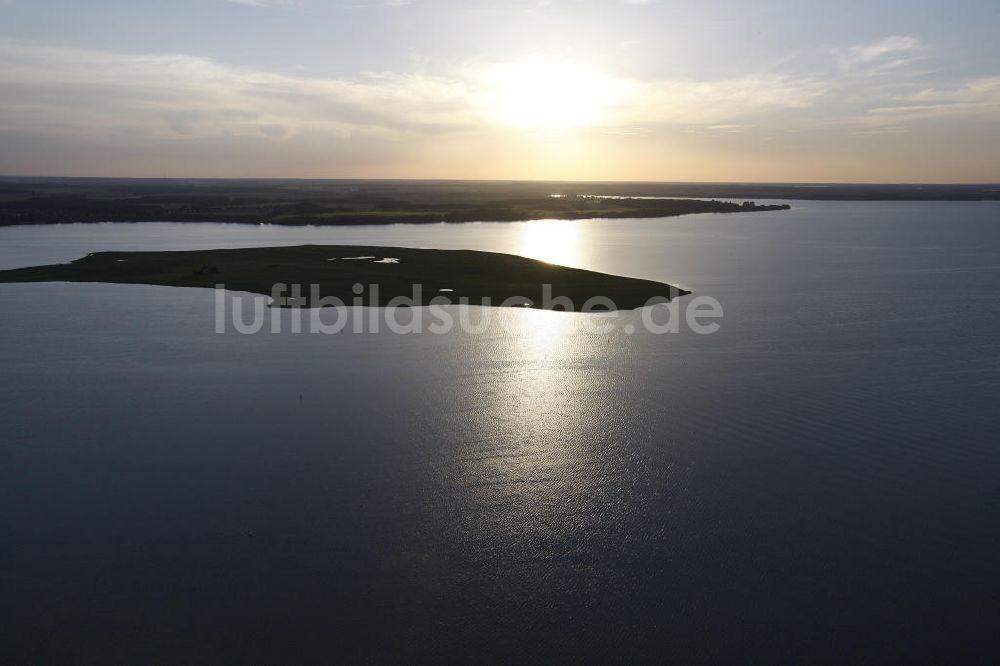
[[[0,174],[998,182],[998,35],[997,0],[0,0]]]

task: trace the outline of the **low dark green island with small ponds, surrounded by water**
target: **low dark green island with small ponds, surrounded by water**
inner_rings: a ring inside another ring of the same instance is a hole
[[[272,305],[282,307],[321,307],[332,304],[323,299],[333,298],[346,305],[468,303],[579,311],[602,297],[590,307],[628,310],[690,293],[663,282],[497,252],[359,245],[94,252],[68,264],[0,271],[0,283],[11,282],[222,285],[277,294]]]

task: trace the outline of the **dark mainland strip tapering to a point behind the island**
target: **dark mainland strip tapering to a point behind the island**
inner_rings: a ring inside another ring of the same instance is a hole
[[[67,222],[490,222],[669,217],[788,207],[742,200],[642,198],[672,196],[650,192],[653,190],[645,186],[582,183],[3,178],[0,226]],[[626,196],[619,196],[623,194]]]

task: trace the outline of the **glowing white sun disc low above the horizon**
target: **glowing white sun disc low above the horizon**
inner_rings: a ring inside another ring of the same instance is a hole
[[[491,67],[482,84],[479,102],[490,120],[523,129],[600,124],[621,94],[621,84],[602,72],[548,57]]]

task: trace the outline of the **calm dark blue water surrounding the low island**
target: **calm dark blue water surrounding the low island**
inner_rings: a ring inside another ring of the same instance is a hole
[[[0,661],[1000,647],[1000,204],[20,227],[0,268],[305,242],[527,254],[726,316],[709,336],[513,310],[481,335],[217,335],[208,290],[0,285]]]

